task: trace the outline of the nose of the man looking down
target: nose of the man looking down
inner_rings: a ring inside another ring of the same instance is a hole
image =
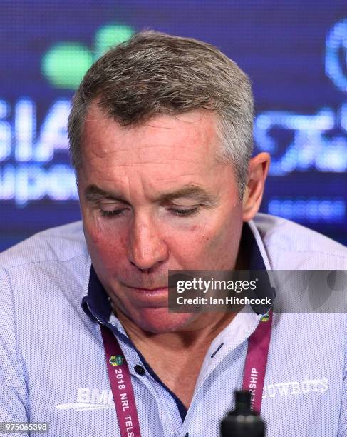
[[[160,226],[149,216],[135,216],[130,231],[129,259],[140,270],[151,270],[167,260]]]

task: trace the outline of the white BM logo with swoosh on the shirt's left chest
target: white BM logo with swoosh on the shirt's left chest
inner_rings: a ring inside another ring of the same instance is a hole
[[[117,365],[115,365],[117,366]],[[115,408],[111,390],[98,388],[78,388],[76,402],[60,403],[58,410],[90,411]]]

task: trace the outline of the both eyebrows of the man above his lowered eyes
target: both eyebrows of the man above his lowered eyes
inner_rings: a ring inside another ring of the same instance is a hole
[[[100,189],[100,187],[95,184],[87,186],[84,191],[84,195],[86,197],[86,200],[90,203],[100,201],[101,199],[109,199],[129,204],[129,201],[127,201],[127,199],[125,199],[125,197],[120,194],[120,192],[105,191],[103,189]],[[195,201],[209,204],[210,206],[213,206],[217,203],[217,196],[195,184],[183,186],[180,189],[168,193],[162,193],[160,194],[160,196],[157,197],[157,199],[155,199],[155,201],[165,204],[175,199],[180,199],[181,197],[194,199]]]

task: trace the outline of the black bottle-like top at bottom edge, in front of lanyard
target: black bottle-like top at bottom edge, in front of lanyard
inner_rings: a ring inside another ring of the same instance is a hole
[[[251,392],[235,391],[235,408],[220,426],[222,437],[265,437],[265,423],[251,410]]]

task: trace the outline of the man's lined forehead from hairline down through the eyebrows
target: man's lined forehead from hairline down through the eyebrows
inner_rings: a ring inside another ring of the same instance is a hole
[[[234,182],[218,157],[217,117],[212,111],[158,115],[139,126],[120,126],[94,105],[86,116],[79,179],[130,196],[159,195],[184,186],[211,190]],[[221,179],[221,181],[219,181]]]

